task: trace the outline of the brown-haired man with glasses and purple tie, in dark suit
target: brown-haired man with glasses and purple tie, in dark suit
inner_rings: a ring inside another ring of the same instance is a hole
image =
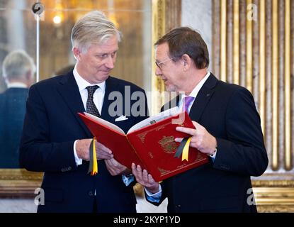
[[[196,129],[177,130],[190,135],[190,146],[210,162],[161,184],[132,164],[147,200],[158,206],[168,198],[168,212],[256,212],[250,176],[264,173],[268,157],[253,96],[208,72],[208,48],[191,28],[175,28],[155,47],[157,76],[166,90],[184,93],[163,109],[176,103],[188,112]]]

